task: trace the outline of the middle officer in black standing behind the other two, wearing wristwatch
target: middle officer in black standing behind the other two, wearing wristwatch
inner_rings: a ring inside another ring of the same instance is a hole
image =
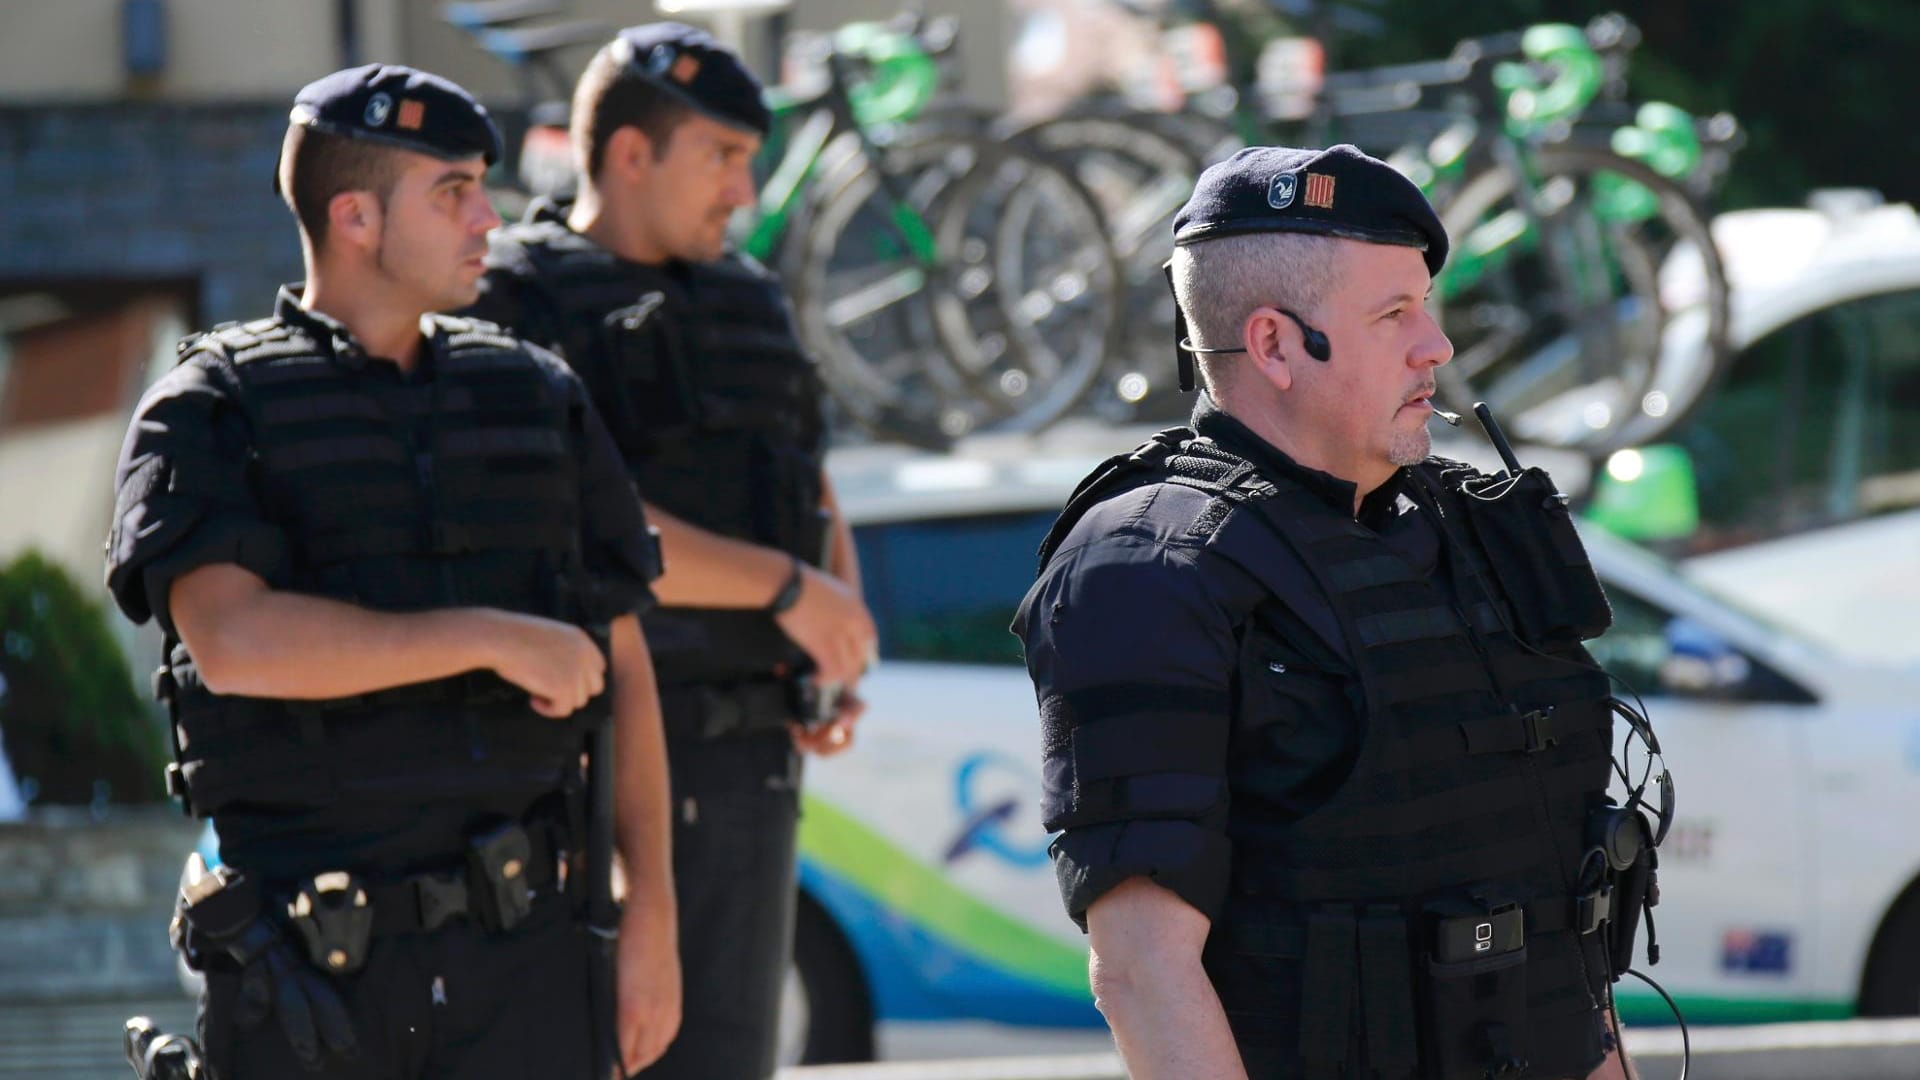
[[[647,640],[674,786],[685,1020],[647,1076],[774,1068],[795,905],[795,749],[849,746],[874,648],[824,475],[820,382],[778,282],[726,248],[760,85],[708,35],[622,31],[572,100],[580,196],[488,256],[474,313],[586,377],[660,528]],[[837,686],[833,701],[808,688]],[[818,723],[812,723],[818,721]]]

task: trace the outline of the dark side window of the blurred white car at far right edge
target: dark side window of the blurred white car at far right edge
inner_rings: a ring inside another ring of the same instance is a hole
[[[1920,505],[1920,292],[1761,338],[1680,442],[1699,479],[1690,553]]]

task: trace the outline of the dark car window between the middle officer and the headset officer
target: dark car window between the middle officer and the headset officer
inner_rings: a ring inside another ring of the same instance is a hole
[[[1021,665],[1008,626],[1033,584],[1056,511],[854,528],[860,577],[887,659]]]

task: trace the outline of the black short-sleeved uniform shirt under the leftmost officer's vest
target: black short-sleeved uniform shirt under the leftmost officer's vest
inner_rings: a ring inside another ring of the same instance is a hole
[[[413,371],[401,371],[394,361],[367,356],[340,323],[301,309],[292,286],[280,290],[275,319],[309,331],[332,350],[334,363],[355,373],[369,396],[380,384],[434,377],[432,344],[422,346]],[[580,402],[572,454],[582,479],[582,555],[597,586],[599,611],[589,615],[612,619],[641,611],[653,603],[649,580],[659,567],[632,479],[578,379],[551,354],[530,352],[530,363],[540,363]],[[207,352],[192,354],[140,400],[121,450],[108,588],[129,619],[154,617],[167,636],[177,636],[169,590],[192,569],[234,563],[269,586],[292,578],[292,546],[252,475],[253,440],[238,394],[223,361]],[[459,721],[449,717],[449,723]],[[528,723],[545,721],[528,709]],[[240,853],[253,865],[305,863],[315,851],[328,851],[334,865],[346,867],[403,865],[424,853],[457,851],[468,819],[518,815],[541,794],[476,792],[472,803],[415,805],[419,799],[409,799],[407,792],[394,792],[392,801],[361,799],[290,817],[223,815],[219,828],[228,859]]]

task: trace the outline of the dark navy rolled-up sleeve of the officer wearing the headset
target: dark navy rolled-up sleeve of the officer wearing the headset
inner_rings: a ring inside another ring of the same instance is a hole
[[[1144,876],[1200,913],[1227,896],[1233,619],[1196,552],[1104,536],[1058,555],[1016,630],[1041,705],[1043,817],[1068,915]]]

